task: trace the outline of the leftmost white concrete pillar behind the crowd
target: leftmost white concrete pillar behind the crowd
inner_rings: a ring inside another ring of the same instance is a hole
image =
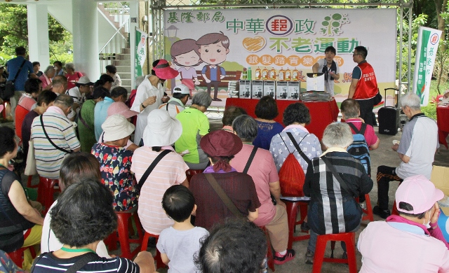
[[[50,64],[47,5],[30,3],[27,13],[29,61],[40,62],[43,71]]]

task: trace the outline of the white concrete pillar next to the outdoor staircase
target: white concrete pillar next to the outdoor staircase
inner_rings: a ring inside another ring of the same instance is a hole
[[[93,82],[100,78],[98,11],[94,0],[72,0],[73,62]]]

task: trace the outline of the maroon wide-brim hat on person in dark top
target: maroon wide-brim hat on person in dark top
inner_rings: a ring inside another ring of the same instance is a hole
[[[243,143],[236,134],[217,130],[206,134],[199,142],[201,149],[210,157],[231,156],[241,151]]]

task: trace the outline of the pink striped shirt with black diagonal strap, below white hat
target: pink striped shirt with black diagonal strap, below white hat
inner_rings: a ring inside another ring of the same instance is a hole
[[[168,147],[163,147],[168,148]],[[142,175],[152,164],[159,153],[152,151],[152,148],[143,146],[134,151],[133,165],[131,172],[134,172],[135,179],[140,181]],[[165,228],[173,225],[173,220],[168,218],[162,209],[161,201],[163,193],[170,186],[180,184],[185,181],[189,167],[182,157],[177,153],[168,153],[154,167],[148,179],[140,190],[138,214],[143,228],[154,235],[159,235]]]

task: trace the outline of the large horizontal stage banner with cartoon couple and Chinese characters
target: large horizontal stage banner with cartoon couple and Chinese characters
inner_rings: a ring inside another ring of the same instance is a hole
[[[375,69],[380,90],[394,87],[393,8],[166,10],[164,24],[165,57],[180,71],[182,82],[196,89],[206,86],[201,75],[213,74],[209,82],[225,86],[225,75],[228,80],[263,80],[274,73],[275,80],[304,82],[305,90],[306,73],[330,45],[337,50],[334,60],[340,70],[335,97],[347,97],[358,45],[368,48],[366,60]]]

